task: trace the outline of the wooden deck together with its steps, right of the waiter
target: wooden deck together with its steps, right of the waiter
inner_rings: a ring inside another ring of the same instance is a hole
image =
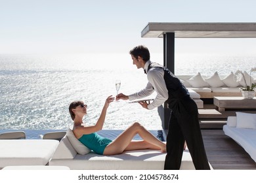
[[[256,113],[256,109],[218,111],[211,104],[198,110],[205,151],[213,169],[256,169],[255,161],[244,148],[224,135],[223,125],[228,116],[236,116],[236,111]]]

